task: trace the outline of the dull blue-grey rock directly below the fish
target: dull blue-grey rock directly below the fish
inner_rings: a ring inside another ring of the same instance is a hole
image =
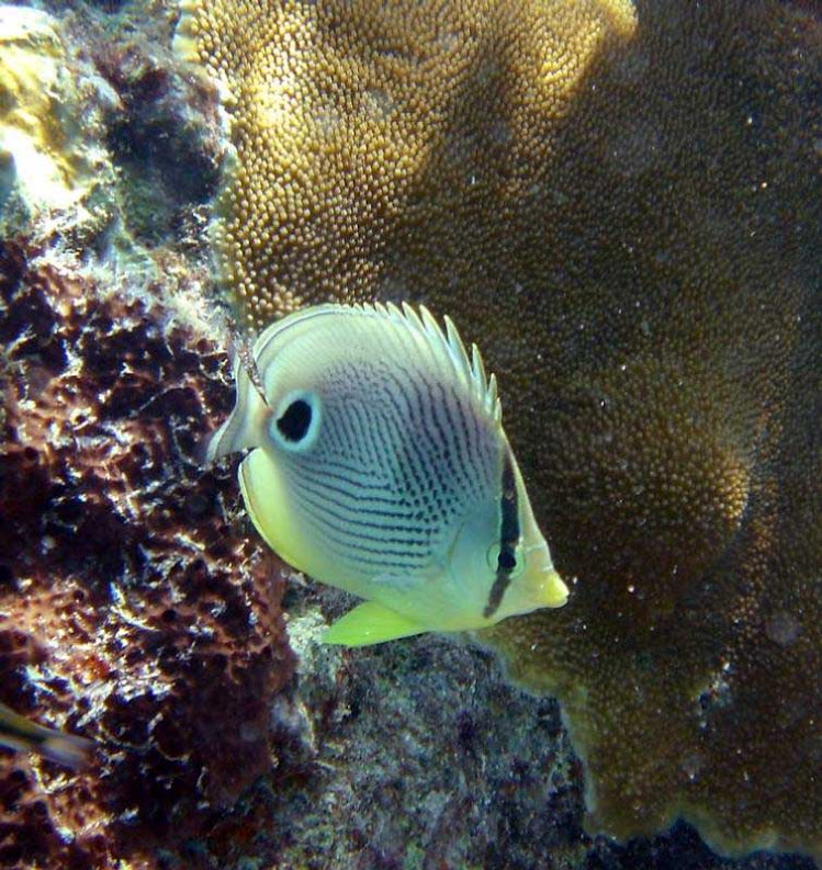
[[[627,848],[590,839],[553,699],[443,637],[325,646],[318,608],[350,607],[336,590],[292,577],[284,605],[299,666],[273,705],[283,764],[210,833],[215,867],[813,870],[796,857],[717,858],[685,825]]]

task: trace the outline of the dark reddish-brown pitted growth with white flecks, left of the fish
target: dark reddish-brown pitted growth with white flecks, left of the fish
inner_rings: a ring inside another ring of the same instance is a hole
[[[193,459],[230,402],[218,347],[38,255],[0,248],[0,686],[97,750],[0,753],[0,863],[148,867],[271,768],[280,565]]]

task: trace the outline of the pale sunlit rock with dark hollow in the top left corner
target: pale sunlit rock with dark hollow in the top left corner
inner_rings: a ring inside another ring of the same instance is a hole
[[[36,227],[83,259],[150,271],[146,247],[205,245],[217,94],[179,75],[167,15],[71,5],[0,7],[0,235]]]

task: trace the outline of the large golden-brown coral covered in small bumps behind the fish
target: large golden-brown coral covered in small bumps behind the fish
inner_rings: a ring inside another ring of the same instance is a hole
[[[592,825],[819,851],[820,23],[773,0],[184,4],[249,325],[424,302],[500,376]]]

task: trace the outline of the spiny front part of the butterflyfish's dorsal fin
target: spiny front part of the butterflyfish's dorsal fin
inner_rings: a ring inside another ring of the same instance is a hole
[[[420,336],[431,348],[435,357],[447,360],[457,378],[478,399],[483,410],[495,423],[500,425],[503,408],[497,395],[496,375],[488,377],[485,374],[485,364],[476,344],[471,344],[471,355],[457,327],[450,317],[444,318],[446,328],[437,323],[435,316],[425,307],[419,306],[419,312],[404,302],[402,308],[393,303],[373,306],[379,315],[389,317],[395,323],[402,323],[412,332]]]

